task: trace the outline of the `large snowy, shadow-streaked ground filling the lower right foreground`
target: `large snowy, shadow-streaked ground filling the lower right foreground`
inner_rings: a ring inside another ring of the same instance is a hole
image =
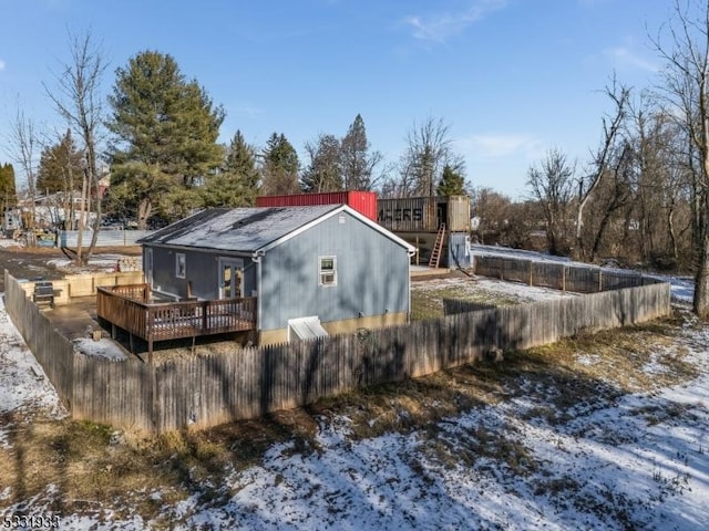
[[[707,368],[703,353],[697,362]],[[562,427],[525,420],[535,406],[525,399],[443,424],[440,439],[451,456],[470,451],[483,430],[527,450],[522,472],[485,458],[446,462],[418,433],[352,444],[341,418],[320,427],[317,454],[292,455],[278,445],[261,466],[235,473],[235,494],[224,507],[199,510],[188,500],[177,511],[194,513],[184,529],[209,522],[273,530],[702,530],[709,521],[708,384],[705,372],[651,396],[578,407]],[[654,425],[634,413],[670,404],[682,415]]]

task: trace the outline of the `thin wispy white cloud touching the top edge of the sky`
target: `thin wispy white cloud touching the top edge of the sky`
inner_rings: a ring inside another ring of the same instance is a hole
[[[444,42],[506,4],[507,0],[475,0],[463,12],[446,12],[429,17],[410,15],[404,19],[404,22],[413,28],[414,38],[422,41]]]

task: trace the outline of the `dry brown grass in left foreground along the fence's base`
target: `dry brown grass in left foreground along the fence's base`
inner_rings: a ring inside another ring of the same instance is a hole
[[[282,423],[274,416],[157,436],[71,419],[3,418],[11,429],[10,448],[0,448],[0,492],[8,493],[2,506],[45,493],[49,485],[55,488],[49,509],[61,514],[110,504],[119,517],[154,519],[164,504],[195,493],[215,503],[226,496],[232,470],[260,462],[274,442],[312,438],[315,421],[300,413],[307,423],[295,423],[294,414]]]

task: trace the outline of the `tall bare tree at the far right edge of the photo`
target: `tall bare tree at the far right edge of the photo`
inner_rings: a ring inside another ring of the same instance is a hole
[[[668,41],[664,42],[662,39]],[[709,0],[675,0],[653,40],[665,62],[662,94],[687,133],[696,259],[693,310],[709,319]]]

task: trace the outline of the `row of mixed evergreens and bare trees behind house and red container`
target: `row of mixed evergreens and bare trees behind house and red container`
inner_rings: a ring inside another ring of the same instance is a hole
[[[21,154],[17,160],[27,195],[59,194],[64,211],[80,196],[90,205],[96,229],[102,214],[135,220],[143,229],[197,209],[250,206],[258,195],[465,192],[462,158],[453,155],[449,127],[442,121],[414,124],[400,171],[372,149],[360,114],[342,137],[320,134],[308,142],[307,160],[301,163],[279,132],[263,148],[249,145],[242,131],[227,145],[220,144],[225,110],[196,80],[187,79],[169,54],[138,52],[115,70],[111,92],[102,97],[106,63],[92,35],[70,35],[70,52],[71,60],[60,65],[54,83],[45,85],[68,128],[38,134],[19,110],[13,144]],[[81,212],[79,221],[72,212],[66,228],[78,228],[83,219],[86,212]]]

